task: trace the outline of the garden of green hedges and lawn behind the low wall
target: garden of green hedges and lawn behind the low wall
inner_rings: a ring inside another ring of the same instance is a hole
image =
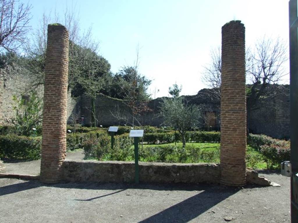
[[[135,127],[134,129],[141,129]],[[144,126],[139,143],[139,161],[168,163],[219,163],[220,132],[187,131],[185,147],[181,134],[169,128]],[[130,126],[119,126],[111,149],[107,128],[67,126],[67,151],[83,150],[84,159],[102,161],[133,161],[133,139]],[[13,126],[0,127],[0,157],[15,160],[35,160],[41,157],[42,130],[20,136]],[[279,169],[280,162],[290,159],[290,142],[265,135],[249,134],[246,166],[253,169]]]

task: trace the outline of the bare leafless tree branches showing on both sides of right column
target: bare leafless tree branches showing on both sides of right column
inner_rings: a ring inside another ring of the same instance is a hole
[[[211,101],[220,100],[221,86],[221,51],[220,49],[211,51],[212,63],[204,67],[202,80],[212,89],[206,89],[206,97]],[[277,84],[285,73],[284,65],[288,60],[287,48],[285,43],[277,38],[275,40],[263,37],[257,41],[254,50],[246,51],[246,80],[250,84],[247,85],[246,109],[247,117],[249,117],[252,109],[256,108],[261,95],[271,85],[271,93],[266,97],[274,97],[275,93],[282,92]],[[274,92],[272,92],[274,91]],[[248,122],[247,122],[248,123]]]

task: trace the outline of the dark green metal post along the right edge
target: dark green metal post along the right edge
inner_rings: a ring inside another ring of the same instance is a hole
[[[290,138],[291,138],[291,222],[298,222],[297,180],[298,173],[298,42],[297,42],[297,0],[289,1],[289,34],[290,34]],[[295,202],[296,200],[296,202]]]

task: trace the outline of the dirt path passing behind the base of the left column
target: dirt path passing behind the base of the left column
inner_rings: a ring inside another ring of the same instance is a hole
[[[68,159],[83,159],[83,150],[69,152],[66,154]],[[24,175],[39,175],[40,173],[40,160],[33,161],[9,161],[4,160],[5,170],[3,173],[24,174]]]

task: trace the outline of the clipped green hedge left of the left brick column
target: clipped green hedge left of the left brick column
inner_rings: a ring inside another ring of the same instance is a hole
[[[0,157],[18,160],[40,158],[41,138],[8,134],[0,136]]]

